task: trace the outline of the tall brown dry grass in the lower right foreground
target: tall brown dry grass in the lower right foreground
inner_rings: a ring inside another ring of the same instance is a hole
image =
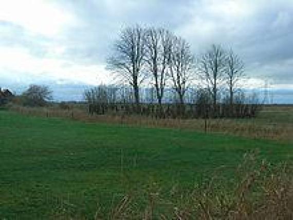
[[[150,182],[113,202],[107,213],[97,208],[93,219],[293,219],[292,164],[271,164],[257,152],[245,154],[234,176],[221,173],[196,183],[164,189]],[[78,208],[78,207],[77,207]],[[53,219],[86,219],[55,213]]]

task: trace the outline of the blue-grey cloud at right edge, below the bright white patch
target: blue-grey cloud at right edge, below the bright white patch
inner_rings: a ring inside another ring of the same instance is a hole
[[[254,7],[250,16],[228,22],[217,20],[206,11],[199,12],[194,17],[214,26],[204,36],[188,32],[188,40],[195,45],[195,53],[201,53],[211,43],[232,47],[244,59],[249,76],[292,84],[293,63],[289,61],[293,59],[293,2],[256,1]]]

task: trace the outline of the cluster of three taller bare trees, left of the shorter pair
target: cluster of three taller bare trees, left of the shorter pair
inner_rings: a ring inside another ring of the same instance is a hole
[[[163,28],[135,26],[121,31],[108,68],[133,88],[136,104],[140,101],[139,86],[148,81],[161,105],[166,86],[171,86],[184,103],[194,63],[184,39]]]

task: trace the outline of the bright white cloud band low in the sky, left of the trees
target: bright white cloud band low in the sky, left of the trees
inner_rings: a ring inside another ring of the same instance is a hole
[[[26,78],[55,81],[74,81],[97,85],[110,83],[109,72],[104,65],[81,65],[71,61],[54,58],[36,58],[26,49],[0,48],[0,76],[9,73],[15,81]]]

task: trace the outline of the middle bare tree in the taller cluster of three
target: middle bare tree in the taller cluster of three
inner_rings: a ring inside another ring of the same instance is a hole
[[[164,87],[166,86],[170,42],[171,33],[168,30],[163,28],[149,28],[147,30],[145,44],[147,48],[147,63],[152,73],[159,105],[162,103]]]

